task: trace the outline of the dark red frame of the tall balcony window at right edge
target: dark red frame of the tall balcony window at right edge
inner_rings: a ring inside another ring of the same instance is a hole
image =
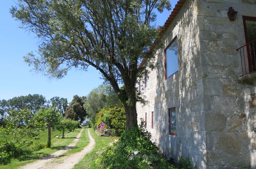
[[[248,39],[248,33],[247,33],[247,28],[246,28],[246,20],[249,20],[249,21],[254,21],[256,22],[256,17],[253,17],[253,16],[243,16],[243,24],[244,24],[244,34],[245,34],[245,44],[248,44],[250,43],[249,39]],[[246,50],[247,50],[247,58],[248,58],[248,64],[251,65],[251,57],[250,56],[250,48],[249,48],[249,45],[246,46]],[[249,72],[253,72],[252,68],[249,66]]]

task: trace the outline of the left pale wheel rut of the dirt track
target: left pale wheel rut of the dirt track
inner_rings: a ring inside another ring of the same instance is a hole
[[[42,158],[41,160],[34,161],[34,162],[29,163],[29,164],[27,164],[27,165],[21,166],[20,168],[21,168],[21,169],[22,169],[22,168],[24,168],[24,169],[25,169],[25,168],[31,168],[31,169],[32,169],[32,168],[33,168],[33,169],[34,169],[34,168],[44,168],[44,165],[45,165],[46,163],[53,161],[56,157],[58,157],[58,156],[60,156],[60,155],[62,155],[62,154],[64,154],[64,153],[66,153],[68,150],[72,149],[72,148],[77,144],[77,142],[78,142],[78,140],[80,139],[81,134],[82,134],[83,131],[84,131],[84,129],[82,129],[82,130],[77,134],[76,138],[75,138],[68,146],[64,147],[64,149],[58,150],[58,151],[52,153],[51,155]],[[52,168],[52,167],[50,167],[50,168]]]

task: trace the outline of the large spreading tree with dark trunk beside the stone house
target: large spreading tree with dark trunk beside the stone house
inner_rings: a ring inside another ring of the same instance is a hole
[[[152,23],[155,10],[165,8],[170,9],[168,0],[21,0],[11,13],[43,39],[40,56],[25,57],[29,65],[56,78],[72,67],[99,70],[114,91],[122,93],[131,129],[137,126],[135,84],[145,71],[139,65],[147,58],[145,65],[154,67],[155,50],[150,47],[158,31]]]

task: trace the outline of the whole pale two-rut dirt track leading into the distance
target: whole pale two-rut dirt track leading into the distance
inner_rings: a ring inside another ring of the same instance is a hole
[[[87,130],[87,131],[88,131],[88,136],[89,136],[90,142],[86,147],[84,147],[84,149],[81,152],[78,152],[75,154],[70,154],[68,156],[64,156],[59,159],[56,159],[56,157],[67,152],[69,149],[72,149],[72,147],[74,147],[76,145],[78,139],[80,138],[82,131],[76,136],[76,138],[74,139],[74,141],[72,143],[70,143],[67,147],[65,147],[65,149],[59,150],[59,151],[51,154],[50,156],[45,157],[42,160],[37,160],[33,163],[29,163],[21,168],[29,168],[29,169],[34,169],[34,168],[47,168],[47,169],[49,169],[49,168],[54,168],[54,169],[55,168],[61,168],[61,169],[72,168],[76,163],[78,163],[80,160],[82,160],[83,157],[87,153],[91,152],[93,149],[95,140],[92,138],[89,130]]]

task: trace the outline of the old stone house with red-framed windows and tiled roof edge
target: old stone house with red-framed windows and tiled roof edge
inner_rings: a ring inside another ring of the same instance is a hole
[[[162,27],[157,69],[140,82],[148,102],[136,105],[167,160],[256,168],[255,39],[255,0],[176,4]]]

